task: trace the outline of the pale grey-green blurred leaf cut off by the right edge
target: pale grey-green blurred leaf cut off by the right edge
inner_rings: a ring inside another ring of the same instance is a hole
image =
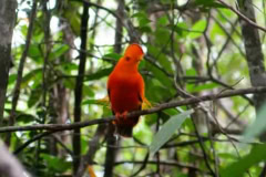
[[[249,142],[250,139],[258,136],[260,133],[263,133],[266,129],[266,103],[259,108],[257,118],[255,122],[246,128],[244,132],[244,140]]]

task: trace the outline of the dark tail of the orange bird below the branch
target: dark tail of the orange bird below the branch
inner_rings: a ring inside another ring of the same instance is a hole
[[[132,137],[133,127],[137,124],[140,117],[132,117],[125,122],[117,122],[116,133],[123,137]]]

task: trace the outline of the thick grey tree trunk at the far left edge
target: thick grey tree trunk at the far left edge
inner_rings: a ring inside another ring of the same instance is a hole
[[[9,65],[11,59],[11,41],[16,20],[16,0],[0,1],[0,123],[3,117],[3,106],[8,85]]]

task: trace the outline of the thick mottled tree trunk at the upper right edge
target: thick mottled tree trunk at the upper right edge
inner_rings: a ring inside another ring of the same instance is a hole
[[[238,0],[241,12],[256,22],[253,1],[252,0]],[[250,76],[252,86],[266,86],[266,72],[264,67],[264,55],[262,51],[262,43],[259,40],[258,30],[250,25],[248,22],[241,20],[242,34],[244,38],[246,61],[248,64],[248,71]],[[258,113],[259,107],[266,101],[266,94],[255,94],[255,110]],[[262,140],[266,140],[266,132],[260,136]]]

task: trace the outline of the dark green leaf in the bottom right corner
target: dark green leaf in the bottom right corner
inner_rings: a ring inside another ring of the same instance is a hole
[[[266,159],[265,149],[266,144],[255,145],[248,155],[222,170],[222,177],[243,176],[243,174],[253,165]]]

